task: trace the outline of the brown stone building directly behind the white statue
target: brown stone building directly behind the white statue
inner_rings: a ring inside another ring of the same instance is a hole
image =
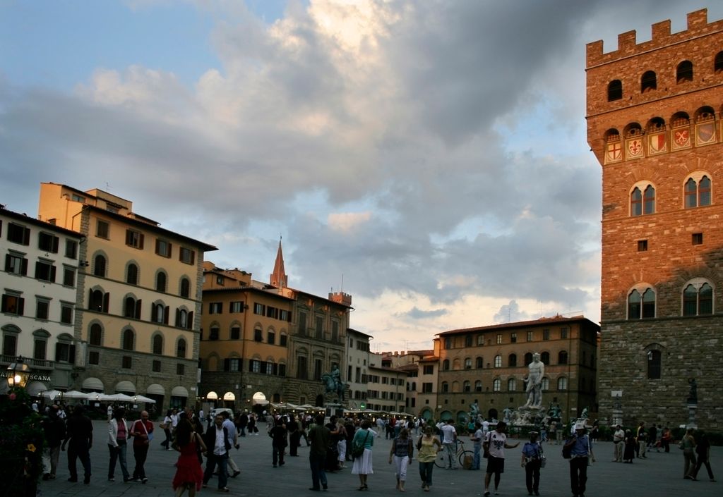
[[[436,401],[422,396],[436,405],[420,405],[419,416],[463,422],[476,402],[484,418],[502,419],[505,408],[527,401],[523,379],[534,353],[540,354],[545,368],[542,405],[560,405],[565,420],[578,417],[585,408],[592,416],[599,331],[583,316],[555,316],[442,332],[435,338]],[[422,373],[433,375],[433,368],[427,369],[432,364],[421,360],[420,365]]]

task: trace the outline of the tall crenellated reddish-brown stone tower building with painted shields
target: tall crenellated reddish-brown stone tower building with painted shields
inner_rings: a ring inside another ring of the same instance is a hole
[[[587,131],[602,165],[599,407],[612,420],[723,428],[723,21],[587,46]],[[617,395],[620,399],[615,399]],[[615,396],[615,397],[614,397]],[[693,399],[690,399],[691,401]]]

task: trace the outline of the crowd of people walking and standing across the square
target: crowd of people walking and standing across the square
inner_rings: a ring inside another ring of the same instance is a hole
[[[259,436],[259,423],[265,422],[266,433],[270,437],[270,464],[281,468],[286,457],[299,457],[299,447],[305,443],[309,447],[309,470],[312,486],[309,490],[328,490],[328,472],[347,468],[351,464],[351,474],[359,478],[358,490],[369,489],[369,475],[374,472],[372,450],[375,439],[390,440],[389,464],[393,464],[395,488],[400,492],[407,489],[408,470],[415,455],[419,464],[419,478],[422,490],[432,487],[432,473],[438,454],[443,453],[447,469],[458,469],[456,444],[458,433],[453,420],[429,423],[409,418],[337,418],[324,415],[270,415],[263,413],[260,419],[250,412],[232,415],[230,410],[219,410],[213,417],[204,417],[203,412],[194,413],[191,408],[168,410],[161,423],[154,426],[146,411],[129,423],[124,407],[108,411],[107,431],[101,435],[108,446],[108,481],[114,482],[118,466],[124,482],[137,481],[147,483],[145,472],[150,442],[154,438],[154,428],[161,430],[164,440],[161,449],[179,452],[176,472],[172,486],[176,497],[188,492],[194,497],[197,490],[210,484],[217,477],[216,486],[222,493],[230,491],[229,478],[240,474],[234,462],[231,449],[239,449],[239,438]],[[59,464],[59,454],[67,450],[67,464],[70,482],[79,480],[77,462],[82,464],[83,483],[90,483],[92,475],[90,448],[93,446],[93,423],[85,415],[84,407],[78,405],[67,415],[57,405],[49,406],[43,420],[46,435],[49,464],[44,479],[55,479]],[[374,429],[376,428],[376,429]],[[505,472],[505,449],[515,449],[520,442],[508,442],[507,423],[487,420],[474,423],[471,441],[474,457],[466,469],[482,470],[482,459],[487,459],[484,467],[484,496],[495,493],[500,488],[502,473]],[[557,428],[557,427],[556,427]],[[596,442],[593,434],[588,434],[584,420],[569,426],[561,426],[552,433],[562,433],[563,457],[569,459],[570,487],[575,497],[584,497],[589,465],[595,461],[593,446]],[[541,470],[546,462],[539,429],[529,431],[529,441],[521,449],[521,467],[525,473],[525,483],[529,495],[539,496]],[[614,462],[629,462],[633,459],[647,459],[650,451],[669,452],[672,445],[672,433],[661,426],[646,428],[638,423],[636,429],[623,430],[620,425],[612,432],[612,457]],[[549,443],[557,443],[557,436]],[[127,465],[129,446],[134,457],[132,472]],[[674,445],[675,446],[675,445]],[[702,431],[689,428],[677,445],[683,451],[683,477],[697,480],[703,466],[709,478],[715,481],[710,464],[710,444]]]

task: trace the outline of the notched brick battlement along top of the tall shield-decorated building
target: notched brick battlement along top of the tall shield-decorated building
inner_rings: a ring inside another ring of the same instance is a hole
[[[696,10],[696,12],[688,13],[688,29],[680,33],[671,34],[670,20],[665,20],[652,25],[653,38],[643,43],[637,43],[635,30],[617,35],[617,50],[609,53],[603,53],[602,40],[588,43],[586,46],[587,68],[608,64],[609,62],[721,31],[723,31],[723,20],[709,23],[708,9]]]

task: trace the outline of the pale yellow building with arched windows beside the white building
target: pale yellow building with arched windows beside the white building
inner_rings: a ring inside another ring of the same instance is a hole
[[[215,247],[161,228],[127,199],[40,184],[38,217],[82,235],[68,389],[144,395],[158,410],[197,397],[201,267]],[[56,353],[56,356],[58,354]]]

